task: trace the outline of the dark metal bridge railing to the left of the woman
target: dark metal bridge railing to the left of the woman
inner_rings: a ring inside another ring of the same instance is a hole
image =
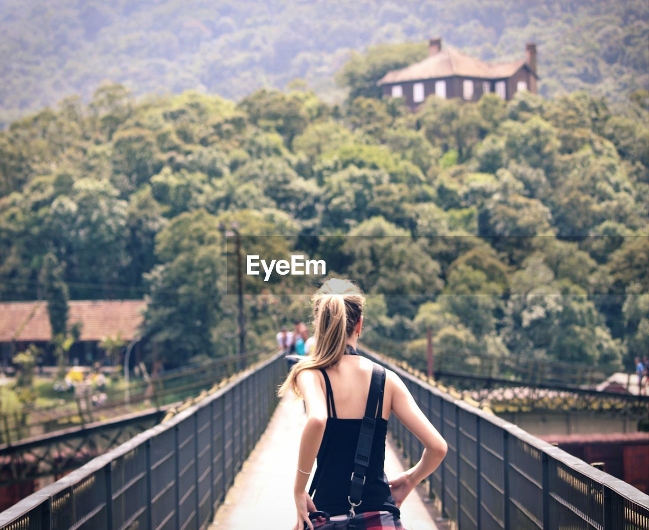
[[[278,403],[282,354],[0,514],[0,528],[204,528]]]

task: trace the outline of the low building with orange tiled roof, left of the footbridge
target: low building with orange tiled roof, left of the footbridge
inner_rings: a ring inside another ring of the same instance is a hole
[[[101,360],[104,352],[99,343],[106,337],[131,341],[140,333],[144,300],[70,300],[67,322],[79,324],[79,341],[73,344],[70,361],[82,364]],[[29,344],[43,348],[45,364],[55,364],[52,354],[52,328],[47,313],[47,302],[0,302],[0,368],[10,363],[11,357]],[[139,346],[139,344],[138,344]],[[138,354],[138,346],[134,355]]]

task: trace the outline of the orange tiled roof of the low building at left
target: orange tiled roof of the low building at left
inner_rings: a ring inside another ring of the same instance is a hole
[[[82,324],[81,341],[130,340],[143,320],[144,300],[71,300],[68,324]],[[0,302],[0,343],[51,341],[47,302]]]

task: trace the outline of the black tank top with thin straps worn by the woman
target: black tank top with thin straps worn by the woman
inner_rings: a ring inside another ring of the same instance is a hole
[[[363,499],[356,513],[371,511],[389,511],[400,517],[400,511],[390,493],[390,487],[383,470],[386,455],[387,420],[382,418],[383,392],[386,385],[385,368],[381,367],[381,391],[376,413],[376,426],[370,453]],[[324,376],[326,387],[327,421],[323,440],[317,454],[317,468],[309,494],[318,510],[330,515],[349,513],[350,504],[347,500],[351,486],[351,475],[354,470],[354,457],[360,433],[362,419],[343,419],[336,417],[334,392],[326,371],[320,370]]]

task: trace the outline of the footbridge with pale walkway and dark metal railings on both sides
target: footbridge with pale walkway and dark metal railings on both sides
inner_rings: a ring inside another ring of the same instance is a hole
[[[649,529],[649,496],[398,367],[448,442],[443,464],[404,503],[408,529]],[[0,513],[2,529],[288,529],[304,415],[276,389],[275,354]],[[421,457],[391,417],[386,474]],[[426,501],[425,503],[423,501]]]

